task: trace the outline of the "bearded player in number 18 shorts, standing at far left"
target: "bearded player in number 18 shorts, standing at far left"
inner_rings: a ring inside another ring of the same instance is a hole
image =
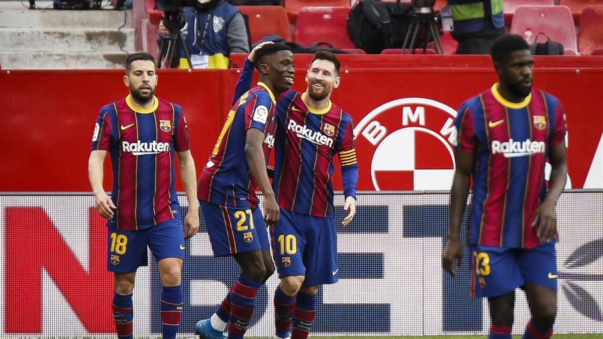
[[[199,227],[195,164],[182,107],[155,97],[153,56],[128,55],[124,84],[130,95],[104,106],[96,120],[88,160],[96,209],[107,218],[107,266],[114,273],[113,319],[118,338],[132,338],[134,274],[147,265],[147,246],[163,285],[163,338],[176,337],[182,315],[185,238]],[[103,162],[111,154],[113,189],[103,189]],[[174,154],[189,202],[184,224],[174,189]]]

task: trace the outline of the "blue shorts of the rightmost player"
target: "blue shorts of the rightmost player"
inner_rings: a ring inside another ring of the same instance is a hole
[[[557,291],[555,241],[532,249],[473,246],[472,296],[497,297],[525,284]]]

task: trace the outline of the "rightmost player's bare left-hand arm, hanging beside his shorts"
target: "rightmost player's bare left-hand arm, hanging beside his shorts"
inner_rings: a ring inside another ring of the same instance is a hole
[[[452,180],[452,189],[450,189],[448,242],[442,253],[442,267],[449,271],[453,277],[456,276],[456,271],[461,267],[463,257],[463,250],[458,241],[458,232],[463,210],[467,204],[474,157],[475,153],[473,152],[463,150],[456,150],[455,152],[456,171]]]

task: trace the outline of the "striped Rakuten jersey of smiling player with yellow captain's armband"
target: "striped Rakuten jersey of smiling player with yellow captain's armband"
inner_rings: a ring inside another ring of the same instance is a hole
[[[305,93],[289,90],[277,104],[274,194],[280,208],[333,217],[333,157],[339,156],[344,194],[356,196],[358,164],[352,117],[329,101],[314,110]],[[348,175],[349,173],[349,175]]]

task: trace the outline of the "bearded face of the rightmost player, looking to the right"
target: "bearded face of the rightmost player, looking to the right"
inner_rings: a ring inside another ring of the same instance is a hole
[[[529,49],[513,51],[498,68],[500,83],[517,97],[527,97],[532,91],[534,59]]]

